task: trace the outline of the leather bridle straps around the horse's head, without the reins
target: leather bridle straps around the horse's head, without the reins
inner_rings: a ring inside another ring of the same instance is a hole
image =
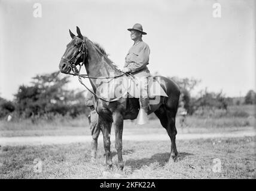
[[[77,65],[77,60],[83,56],[83,63],[80,65],[80,66],[83,66],[84,64],[84,61],[86,60],[86,57],[87,57],[87,48],[86,48],[86,42],[85,42],[85,38],[80,39],[78,38],[77,36],[75,36],[74,38],[77,38],[81,41],[81,45],[80,47],[78,48],[78,50],[75,52],[74,56],[72,56],[69,60],[67,60],[66,58],[63,58],[63,60],[65,60],[67,63],[68,63],[68,66],[71,68],[71,69],[74,69],[74,67]],[[80,63],[78,63],[80,64]]]

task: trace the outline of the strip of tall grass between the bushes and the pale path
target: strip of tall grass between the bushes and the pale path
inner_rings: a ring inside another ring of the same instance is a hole
[[[188,116],[184,127],[179,124],[179,116],[176,118],[176,128],[178,133],[220,133],[229,131],[246,130],[254,127],[255,118],[220,118],[203,119]],[[147,125],[135,125],[135,122],[124,121],[125,133],[165,133],[159,119],[150,121]],[[90,135],[89,124],[84,119],[84,125],[72,127],[65,125],[44,124],[35,125],[28,121],[25,122],[6,122],[0,121],[0,137],[14,136],[43,136],[43,135]]]

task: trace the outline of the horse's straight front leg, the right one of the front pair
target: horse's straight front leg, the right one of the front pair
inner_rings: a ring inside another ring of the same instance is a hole
[[[124,125],[123,115],[121,115],[120,112],[114,112],[113,122],[115,127],[115,149],[117,149],[118,168],[120,170],[123,170],[124,168],[124,162],[123,162],[123,156],[122,156],[122,149],[123,149],[122,137],[123,137],[123,125]]]

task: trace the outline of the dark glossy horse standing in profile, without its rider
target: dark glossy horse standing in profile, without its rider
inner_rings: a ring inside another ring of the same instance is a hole
[[[70,30],[69,33],[72,40],[67,45],[66,51],[60,61],[60,72],[66,74],[70,74],[71,70],[78,72],[77,69],[74,70],[74,67],[83,63],[86,67],[87,75],[92,84],[94,93],[96,93],[97,88],[99,88],[96,83],[97,78],[108,78],[110,72],[114,73],[115,76],[123,74],[123,72],[112,64],[105,51],[99,47],[99,45],[81,35],[78,27],[77,36]],[[154,78],[156,78],[156,76]],[[158,76],[158,78],[161,79],[160,85],[168,97],[160,97],[158,104],[151,104],[148,114],[156,113],[156,116],[160,119],[161,125],[166,129],[171,141],[169,161],[173,161],[178,155],[175,143],[177,134],[175,116],[178,109],[180,91],[178,85],[170,79],[164,78],[163,76]],[[108,165],[109,168],[112,167],[110,133],[112,123],[114,122],[115,149],[117,149],[118,167],[123,170],[123,121],[124,119],[136,119],[139,111],[138,98],[123,97],[116,101],[105,101],[97,98],[96,110],[100,116],[99,124],[103,134],[106,165]]]

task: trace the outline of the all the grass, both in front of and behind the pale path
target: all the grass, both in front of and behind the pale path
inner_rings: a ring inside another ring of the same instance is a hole
[[[188,116],[178,134],[231,133],[255,130],[255,106],[230,107],[234,113],[248,110],[248,116],[200,118]],[[240,115],[240,114],[239,114]],[[124,122],[124,135],[166,134],[158,119],[147,125]],[[44,135],[90,135],[87,118],[56,119],[33,124],[25,121],[0,121],[0,137]],[[100,135],[102,136],[102,135]],[[114,130],[111,137],[114,136]],[[240,134],[239,134],[240,136]],[[0,146],[0,178],[256,178],[255,138],[209,138],[176,140],[178,160],[168,164],[170,141],[123,140],[123,172],[117,167],[105,172],[103,143],[99,141],[95,164],[90,162],[90,143],[41,146]],[[111,144],[114,164],[117,153]],[[42,172],[34,172],[33,161],[42,161]],[[220,159],[221,172],[214,172],[214,159]]]

